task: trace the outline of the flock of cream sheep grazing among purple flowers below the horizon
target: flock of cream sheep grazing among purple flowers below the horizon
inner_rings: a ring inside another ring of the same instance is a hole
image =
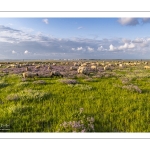
[[[146,61],[59,61],[59,62],[3,62],[0,64],[1,73],[17,72],[23,78],[35,78],[42,73],[50,77],[63,77],[65,73],[89,75],[100,71],[126,68],[130,66],[142,66],[150,69]]]

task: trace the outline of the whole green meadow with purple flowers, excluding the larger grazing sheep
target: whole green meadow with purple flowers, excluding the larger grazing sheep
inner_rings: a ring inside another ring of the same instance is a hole
[[[150,132],[149,62],[127,62],[89,61],[89,74],[71,70],[73,61],[1,62],[0,132]],[[23,78],[26,66],[39,76]]]

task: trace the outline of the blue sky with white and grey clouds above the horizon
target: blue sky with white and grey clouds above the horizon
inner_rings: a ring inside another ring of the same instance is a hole
[[[0,18],[0,59],[149,59],[150,18]]]

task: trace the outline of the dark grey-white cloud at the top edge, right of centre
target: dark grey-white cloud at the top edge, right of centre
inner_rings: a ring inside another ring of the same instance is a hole
[[[119,18],[118,22],[121,25],[128,25],[128,26],[135,26],[137,24],[139,24],[139,21],[137,18]]]

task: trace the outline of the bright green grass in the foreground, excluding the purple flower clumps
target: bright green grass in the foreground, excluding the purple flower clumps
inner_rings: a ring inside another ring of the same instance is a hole
[[[0,131],[57,132],[83,108],[84,115],[95,120],[94,132],[150,132],[149,71],[140,71],[139,76],[134,70],[116,73],[122,76],[76,78],[75,85],[63,84],[60,78],[22,82],[17,75],[0,77],[0,124],[10,129]],[[122,77],[130,80],[123,84]],[[142,93],[122,88],[131,84]]]

